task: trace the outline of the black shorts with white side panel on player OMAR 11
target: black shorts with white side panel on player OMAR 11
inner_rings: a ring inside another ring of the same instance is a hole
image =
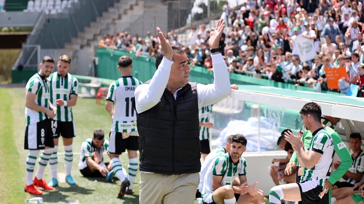
[[[110,132],[109,153],[121,154],[125,150],[139,150],[138,136],[129,136],[123,139],[121,132]]]

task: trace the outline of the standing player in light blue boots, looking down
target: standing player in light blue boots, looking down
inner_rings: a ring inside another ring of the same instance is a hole
[[[50,76],[51,103],[57,107],[57,115],[51,120],[53,133],[54,151],[49,160],[52,179],[49,186],[58,185],[57,164],[58,164],[58,138],[62,135],[64,147],[64,166],[66,169],[66,182],[70,185],[76,184],[71,176],[73,161],[72,141],[76,136],[75,123],[73,121],[72,106],[76,105],[78,94],[78,80],[68,73],[71,68],[71,58],[62,55],[58,58],[57,72]]]

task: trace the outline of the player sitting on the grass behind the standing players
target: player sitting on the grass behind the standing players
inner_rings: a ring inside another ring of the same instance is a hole
[[[87,138],[81,144],[80,162],[78,168],[84,177],[106,177],[109,182],[112,177],[107,177],[111,170],[109,163],[103,162],[102,153],[109,153],[109,141],[104,138],[104,131],[95,130],[92,138]]]

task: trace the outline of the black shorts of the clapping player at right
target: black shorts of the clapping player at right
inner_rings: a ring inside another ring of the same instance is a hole
[[[317,185],[316,188],[312,188],[310,190],[307,190],[306,192],[302,192],[302,186],[300,184],[304,184],[304,183],[305,182],[297,183],[298,187],[300,188],[302,204],[327,204],[327,203],[329,203],[329,193],[324,194],[322,198],[320,198],[320,196],[319,196],[319,195],[321,195],[321,193],[323,193],[323,186]],[[329,190],[329,189],[327,189],[327,190]]]

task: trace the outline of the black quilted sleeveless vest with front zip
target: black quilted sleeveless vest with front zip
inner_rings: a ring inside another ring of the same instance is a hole
[[[176,100],[166,88],[157,105],[137,113],[139,170],[161,174],[200,172],[196,85],[189,82],[177,92]]]

